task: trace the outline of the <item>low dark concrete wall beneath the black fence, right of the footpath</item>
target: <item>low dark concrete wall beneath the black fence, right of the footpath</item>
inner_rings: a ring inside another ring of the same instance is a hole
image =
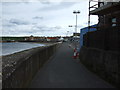
[[[120,53],[82,47],[80,61],[91,71],[120,88]]]

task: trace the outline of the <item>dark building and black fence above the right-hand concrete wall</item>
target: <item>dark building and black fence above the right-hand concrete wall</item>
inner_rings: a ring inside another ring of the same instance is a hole
[[[87,40],[85,46],[107,51],[120,51],[120,0],[118,1],[98,2],[98,8],[89,11],[89,16],[98,15],[99,22],[96,27],[97,31],[85,36]]]

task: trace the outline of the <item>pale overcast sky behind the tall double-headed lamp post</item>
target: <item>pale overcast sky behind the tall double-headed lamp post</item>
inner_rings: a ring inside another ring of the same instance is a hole
[[[70,36],[88,26],[88,0],[3,0],[1,36]],[[98,23],[91,16],[91,25]],[[72,25],[73,27],[68,27]]]

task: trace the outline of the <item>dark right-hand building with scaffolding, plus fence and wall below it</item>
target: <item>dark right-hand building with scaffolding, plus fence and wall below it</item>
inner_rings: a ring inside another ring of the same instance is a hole
[[[120,88],[120,0],[117,1],[98,2],[98,7],[89,10],[89,17],[98,15],[99,22],[96,31],[90,32],[89,27],[89,32],[83,35],[80,60],[89,70]],[[89,18],[88,26],[90,21]]]

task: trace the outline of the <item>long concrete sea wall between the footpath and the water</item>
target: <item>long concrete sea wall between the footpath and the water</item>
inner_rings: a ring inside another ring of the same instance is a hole
[[[60,44],[37,47],[3,56],[2,88],[26,88]]]

